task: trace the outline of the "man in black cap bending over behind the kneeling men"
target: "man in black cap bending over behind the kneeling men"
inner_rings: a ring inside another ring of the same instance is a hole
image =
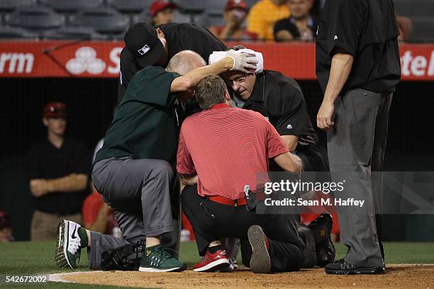
[[[208,63],[213,51],[227,48],[206,28],[191,23],[167,23],[155,27],[148,23],[135,23],[128,28],[124,40],[126,47],[121,52],[118,101],[134,74],[148,65],[166,67],[169,60],[182,50],[193,50]]]

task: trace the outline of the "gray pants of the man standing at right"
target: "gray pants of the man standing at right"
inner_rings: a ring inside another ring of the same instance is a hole
[[[345,177],[335,198],[365,200],[362,208],[337,206],[345,260],[357,266],[382,266],[381,202],[389,108],[393,93],[347,91],[335,101],[335,126],[328,130],[328,158],[334,181]],[[347,172],[347,173],[345,173]],[[380,238],[379,238],[380,236]]]

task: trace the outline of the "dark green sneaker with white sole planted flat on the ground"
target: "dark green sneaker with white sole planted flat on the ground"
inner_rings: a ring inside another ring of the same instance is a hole
[[[172,257],[162,246],[146,248],[140,260],[140,272],[172,272],[184,271],[184,262]]]

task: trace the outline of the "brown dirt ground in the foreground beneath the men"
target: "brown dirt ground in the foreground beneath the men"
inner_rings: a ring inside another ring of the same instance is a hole
[[[434,288],[434,266],[388,266],[385,275],[331,276],[323,269],[291,273],[141,273],[87,272],[62,276],[74,283],[121,285],[145,288]]]

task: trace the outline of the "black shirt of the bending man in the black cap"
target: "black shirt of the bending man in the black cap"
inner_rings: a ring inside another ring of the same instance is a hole
[[[167,40],[169,49],[169,60],[182,50],[193,50],[204,58],[208,58],[213,51],[223,51],[228,47],[206,28],[191,23],[167,23],[160,26]],[[124,47],[121,52],[121,75],[118,86],[118,101],[125,94],[126,88],[136,72],[145,67],[135,60],[134,55]]]

